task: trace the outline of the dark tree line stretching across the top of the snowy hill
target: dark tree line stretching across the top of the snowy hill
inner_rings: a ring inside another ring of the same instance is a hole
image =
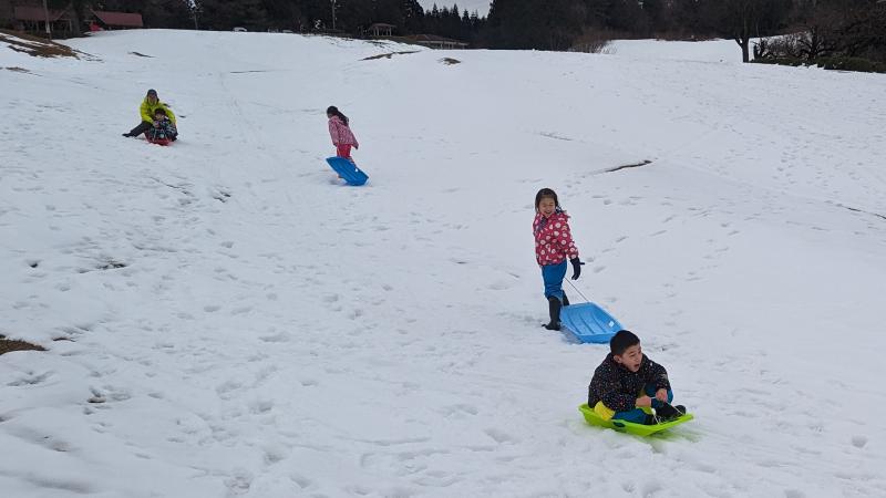
[[[50,0],[51,3],[69,3]],[[74,0],[82,6],[86,0]],[[864,56],[886,62],[883,0],[492,0],[490,13],[418,0],[104,0],[96,9],[141,12],[150,28],[292,30],[365,35],[373,23],[394,34],[436,34],[475,48],[588,50],[601,40],[735,40],[743,60],[753,39],[806,33],[764,44],[759,56]]]

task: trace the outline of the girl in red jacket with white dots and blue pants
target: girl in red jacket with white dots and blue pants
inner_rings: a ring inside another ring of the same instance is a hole
[[[569,231],[569,216],[560,208],[557,193],[543,188],[535,195],[535,259],[542,267],[542,280],[545,282],[545,298],[548,302],[550,322],[547,330],[560,330],[560,308],[569,305],[569,299],[563,292],[563,279],[566,278],[568,260],[573,263],[573,280],[581,274],[581,260]]]

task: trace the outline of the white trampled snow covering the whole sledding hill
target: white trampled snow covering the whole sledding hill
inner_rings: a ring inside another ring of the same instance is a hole
[[[0,356],[3,497],[883,496],[883,75],[723,43],[69,44],[0,45],[0,333],[48,349]],[[169,147],[120,136],[148,87]],[[328,105],[364,187],[323,162]],[[581,418],[608,347],[539,326],[542,187],[693,422]]]

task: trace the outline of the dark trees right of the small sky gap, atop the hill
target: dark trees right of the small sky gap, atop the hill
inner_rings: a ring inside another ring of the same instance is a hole
[[[487,23],[482,38],[492,48],[581,50],[601,39],[725,38],[735,40],[746,62],[752,39],[812,32],[799,45],[886,60],[883,0],[494,0]]]

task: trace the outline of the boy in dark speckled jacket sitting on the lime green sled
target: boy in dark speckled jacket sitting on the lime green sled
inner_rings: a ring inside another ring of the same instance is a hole
[[[605,421],[655,425],[686,413],[684,406],[670,405],[673,392],[668,372],[643,354],[640,338],[619,331],[609,341],[609,350],[588,386],[588,406],[597,415]],[[653,408],[655,415],[643,407]]]

